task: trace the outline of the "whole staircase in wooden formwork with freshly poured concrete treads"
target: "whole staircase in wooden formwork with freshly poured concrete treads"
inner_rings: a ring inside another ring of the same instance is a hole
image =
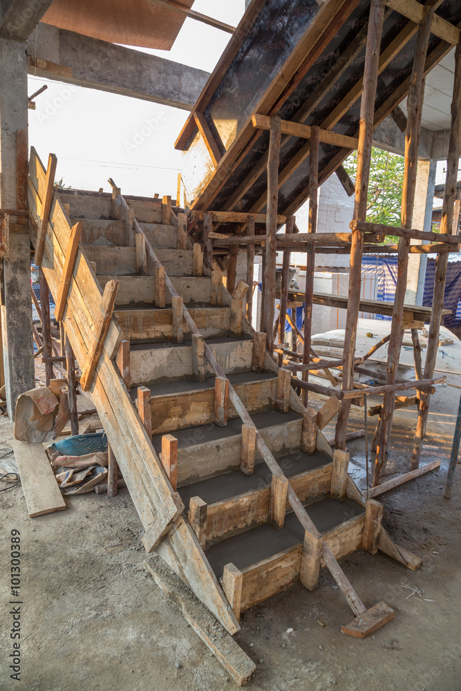
[[[357,549],[382,549],[411,569],[420,560],[393,545],[382,506],[364,501],[348,455],[326,442],[328,417],[318,424],[303,407],[243,315],[245,284],[227,291],[168,198],[125,200],[115,186],[112,196],[55,191],[41,228],[46,171],[33,149],[29,173],[32,243],[43,240],[41,267],[57,304],[64,299],[81,386],[145,549],[229,634],[241,612],[299,580],[314,589],[323,567],[356,615],[346,632],[386,623],[393,612],[383,603],[378,618],[363,616],[337,560]]]

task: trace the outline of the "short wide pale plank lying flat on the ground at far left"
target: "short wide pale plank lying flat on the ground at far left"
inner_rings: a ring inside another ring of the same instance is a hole
[[[30,518],[67,509],[41,444],[11,442]]]

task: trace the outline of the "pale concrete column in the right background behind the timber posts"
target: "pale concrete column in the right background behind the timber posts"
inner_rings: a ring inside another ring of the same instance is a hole
[[[422,231],[431,230],[436,171],[437,161],[435,160],[417,162],[412,228]],[[422,245],[422,241],[411,240],[411,244]],[[427,254],[410,254],[408,257],[405,302],[409,305],[422,305],[426,266]]]

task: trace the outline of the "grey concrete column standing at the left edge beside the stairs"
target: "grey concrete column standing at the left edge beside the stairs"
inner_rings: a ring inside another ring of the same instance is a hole
[[[20,171],[28,168],[27,114],[26,46],[0,39],[0,207],[17,209],[20,202]],[[26,146],[19,149],[17,142],[21,138]],[[27,180],[22,184],[27,189]],[[15,220],[10,218],[12,223]],[[28,234],[10,234],[1,281],[6,405],[8,415],[13,417],[19,394],[35,388]]]

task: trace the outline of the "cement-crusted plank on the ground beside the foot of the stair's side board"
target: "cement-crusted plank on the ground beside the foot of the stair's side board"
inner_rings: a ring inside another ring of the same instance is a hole
[[[160,558],[144,562],[144,567],[150,571],[164,594],[180,607],[185,619],[225,670],[232,675],[238,685],[244,686],[256,669],[256,665],[238,646],[234,638],[226,631],[216,631],[214,615],[210,614],[204,605],[197,602],[178,576],[167,571],[167,567]]]

